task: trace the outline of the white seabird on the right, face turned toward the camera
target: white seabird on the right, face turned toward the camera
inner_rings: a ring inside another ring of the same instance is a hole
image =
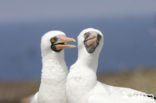
[[[78,59],[67,76],[68,103],[156,103],[151,94],[97,81],[103,42],[102,32],[94,28],[85,29],[78,36]]]

